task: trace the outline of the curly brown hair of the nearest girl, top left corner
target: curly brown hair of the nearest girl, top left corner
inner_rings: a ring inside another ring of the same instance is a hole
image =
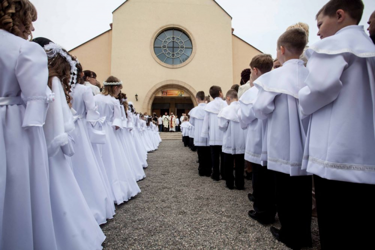
[[[16,36],[27,39],[31,35],[31,23],[36,18],[36,8],[28,0],[1,0],[0,2],[0,28]],[[19,29],[20,24],[24,26],[23,31]]]

